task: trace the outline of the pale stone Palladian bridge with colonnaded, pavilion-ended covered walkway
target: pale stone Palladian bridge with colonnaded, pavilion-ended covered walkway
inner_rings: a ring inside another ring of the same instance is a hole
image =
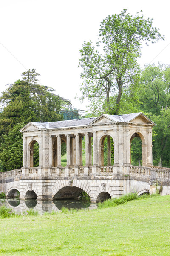
[[[0,192],[5,192],[7,198],[20,192],[21,199],[51,200],[77,198],[85,191],[92,202],[129,192],[153,193],[156,189],[160,189],[161,195],[170,194],[170,169],[152,163],[153,125],[142,112],[29,122],[20,130],[23,167],[0,172]],[[132,166],[130,162],[130,145],[135,137],[142,141],[142,166]],[[38,167],[34,167],[35,143],[39,145]],[[65,167],[61,160],[62,143],[67,151]]]

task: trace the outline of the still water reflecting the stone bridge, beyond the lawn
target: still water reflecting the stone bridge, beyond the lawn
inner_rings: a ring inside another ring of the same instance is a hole
[[[74,199],[60,199],[60,200],[20,200],[20,199],[1,199],[0,206],[5,204],[6,207],[12,208],[15,212],[25,212],[30,209],[38,211],[40,214],[44,212],[58,212],[62,207],[67,207],[68,209],[96,209],[97,205],[89,202],[79,201]]]

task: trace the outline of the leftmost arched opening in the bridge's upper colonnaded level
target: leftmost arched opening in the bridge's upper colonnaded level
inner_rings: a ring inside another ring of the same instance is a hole
[[[30,167],[39,166],[39,144],[33,140],[30,145]]]

